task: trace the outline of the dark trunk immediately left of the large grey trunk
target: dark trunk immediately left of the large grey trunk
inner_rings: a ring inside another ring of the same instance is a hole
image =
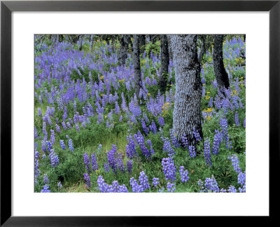
[[[160,63],[160,91],[162,93],[165,93],[167,88],[167,76],[169,66],[167,35],[160,35]]]

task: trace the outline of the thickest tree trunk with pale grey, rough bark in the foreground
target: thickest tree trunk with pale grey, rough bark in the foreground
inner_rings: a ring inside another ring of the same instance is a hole
[[[190,145],[197,142],[193,128],[202,135],[202,83],[197,60],[197,35],[170,35],[175,67],[173,129],[178,139],[186,135]]]

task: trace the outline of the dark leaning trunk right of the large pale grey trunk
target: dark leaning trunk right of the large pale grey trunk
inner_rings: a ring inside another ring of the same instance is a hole
[[[213,62],[218,88],[228,88],[230,81],[223,65],[223,35],[215,35],[214,39]]]

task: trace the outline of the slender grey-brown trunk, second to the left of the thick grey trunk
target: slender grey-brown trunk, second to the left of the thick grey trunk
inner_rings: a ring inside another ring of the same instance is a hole
[[[133,67],[134,67],[134,81],[135,92],[139,97],[139,91],[141,88],[141,66],[140,66],[140,46],[139,35],[133,35]]]

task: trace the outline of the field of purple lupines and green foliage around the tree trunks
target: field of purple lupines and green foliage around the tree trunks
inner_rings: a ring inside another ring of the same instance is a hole
[[[174,62],[162,92],[160,40],[142,46],[137,95],[132,45],[120,64],[120,41],[94,37],[34,37],[34,191],[246,192],[244,36],[224,36],[228,88],[218,89],[214,46],[202,56],[195,146],[173,130]]]

